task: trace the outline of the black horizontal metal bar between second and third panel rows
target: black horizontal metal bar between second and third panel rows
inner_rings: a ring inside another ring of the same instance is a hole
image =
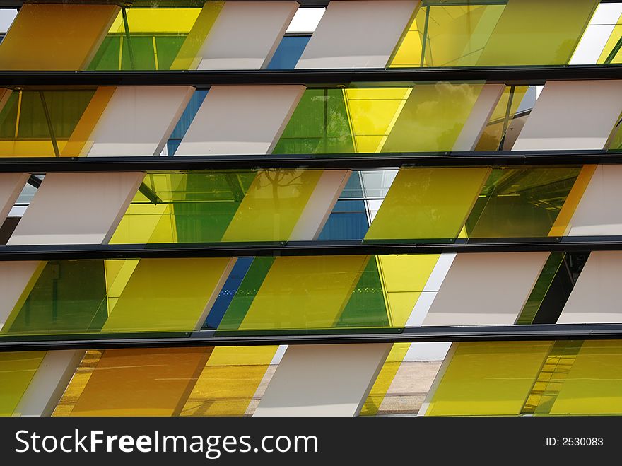
[[[619,164],[622,151],[487,151],[293,154],[284,156],[119,156],[119,157],[0,157],[0,173],[247,170],[321,168],[387,170],[401,167],[525,166]]]

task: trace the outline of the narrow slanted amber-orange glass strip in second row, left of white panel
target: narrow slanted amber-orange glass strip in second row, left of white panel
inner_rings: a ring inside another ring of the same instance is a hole
[[[59,146],[62,157],[86,156],[88,151],[90,151],[90,148],[93,146],[90,135],[93,133],[95,125],[98,124],[102,113],[106,109],[116,89],[117,88],[114,86],[102,86],[95,91],[95,95],[93,95],[93,98],[88,103],[88,107],[86,107],[86,110],[84,110],[82,117],[74,128],[74,132],[69,136],[69,141],[64,144],[62,150],[60,150]]]

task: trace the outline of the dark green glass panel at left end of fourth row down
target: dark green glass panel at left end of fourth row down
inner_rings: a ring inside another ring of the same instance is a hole
[[[51,261],[10,325],[8,334],[98,331],[107,318],[103,260]]]

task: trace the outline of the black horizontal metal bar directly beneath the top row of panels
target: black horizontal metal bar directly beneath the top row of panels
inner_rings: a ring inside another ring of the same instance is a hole
[[[303,84],[412,81],[486,81],[513,86],[551,80],[619,79],[622,64],[190,71],[0,71],[0,86],[195,86],[216,84]]]

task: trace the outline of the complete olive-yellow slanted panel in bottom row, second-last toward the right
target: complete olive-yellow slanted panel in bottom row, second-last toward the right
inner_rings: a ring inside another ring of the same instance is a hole
[[[452,349],[426,414],[511,416],[520,414],[551,342],[462,342]]]

